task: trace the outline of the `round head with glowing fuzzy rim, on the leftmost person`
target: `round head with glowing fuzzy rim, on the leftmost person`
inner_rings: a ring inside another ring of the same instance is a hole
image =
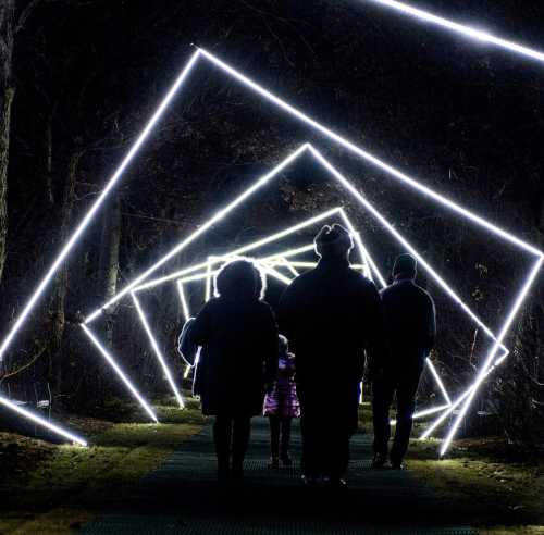
[[[267,279],[251,259],[235,258],[215,276],[215,296],[231,299],[262,299]]]

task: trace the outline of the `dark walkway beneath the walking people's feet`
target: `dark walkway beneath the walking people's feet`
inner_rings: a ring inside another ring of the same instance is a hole
[[[268,423],[255,419],[243,486],[221,488],[210,427],[184,444],[148,474],[124,511],[104,515],[83,530],[91,534],[443,534],[468,535],[455,515],[407,471],[371,470],[371,437],[353,440],[349,490],[334,495],[307,489],[298,468],[267,468]],[[298,459],[300,435],[294,430]],[[454,517],[454,518],[452,518]]]

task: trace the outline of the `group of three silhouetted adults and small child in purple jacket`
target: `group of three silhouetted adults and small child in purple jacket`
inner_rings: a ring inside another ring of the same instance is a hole
[[[181,350],[189,363],[201,348],[194,391],[203,414],[215,416],[221,481],[243,477],[250,419],[258,414],[270,421],[270,466],[290,465],[290,423],[300,415],[302,481],[344,487],[366,369],[373,384],[373,464],[403,465],[416,393],[435,337],[432,298],[415,283],[417,264],[409,254],[398,257],[394,282],[380,294],[351,269],[354,242],[343,226],[324,226],[314,245],[320,261],[284,291],[277,322],[263,301],[259,268],[250,259],[235,259],[217,275],[215,297],[182,333]]]

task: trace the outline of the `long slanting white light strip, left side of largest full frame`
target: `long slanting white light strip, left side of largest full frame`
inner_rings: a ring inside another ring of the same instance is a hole
[[[164,97],[163,101],[157,109],[157,111],[153,113],[152,117],[148,122],[147,126],[144,128],[141,134],[138,136],[138,139],[136,142],[133,145],[124,160],[121,162],[121,165],[119,169],[115,171],[113,176],[109,179],[108,184],[103,188],[102,192],[98,197],[98,199],[95,201],[92,207],[89,209],[87,214],[84,216],[77,228],[74,231],[74,234],[72,234],[71,238],[66,241],[64,247],[62,248],[61,252],[57,257],[55,261],[52,263],[52,265],[49,268],[48,272],[46,273],[46,276],[41,279],[39,283],[38,287],[34,290],[34,294],[32,295],[30,299],[28,302],[25,304],[24,309],[22,312],[18,314],[17,320],[13,324],[11,331],[8,333],[5,338],[2,341],[2,345],[0,346],[0,361],[3,360],[3,356],[5,351],[8,350],[8,347],[10,346],[11,341],[13,340],[14,336],[25,322],[25,320],[28,318],[29,313],[36,306],[38,299],[40,298],[41,294],[44,294],[46,287],[48,284],[51,282],[53,278],[54,274],[59,270],[59,268],[62,265],[66,257],[69,256],[70,251],[76,244],[76,241],[79,239],[81,235],[84,233],[85,228],[89,225],[90,221],[97,213],[98,209],[102,206],[103,201],[106,200],[106,197],[110,194],[112,188],[115,186],[118,183],[119,178],[125,171],[125,169],[128,166],[131,161],[134,159],[136,153],[138,152],[139,148],[144,144],[144,141],[148,138],[149,134],[151,130],[154,128],[156,124],[159,122],[161,119],[162,114],[164,113],[164,110],[168,108],[170,101],[174,98],[174,95],[180,89],[181,85],[184,83],[186,77],[188,76],[190,70],[195,65],[197,59],[199,58],[200,53],[197,51],[196,53],[193,54],[190,58],[189,62],[185,66],[185,69],[182,71],[177,79],[175,80],[174,85],[170,88],[169,92]]]

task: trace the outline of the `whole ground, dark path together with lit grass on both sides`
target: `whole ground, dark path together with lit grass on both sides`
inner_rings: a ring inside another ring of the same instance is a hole
[[[128,423],[137,413],[116,410],[121,423],[88,426],[87,449],[0,433],[0,534],[544,533],[544,465],[508,460],[495,439],[459,440],[444,461],[435,443],[415,443],[399,473],[369,470],[371,437],[359,434],[350,490],[335,497],[306,492],[296,466],[271,472],[257,419],[245,486],[220,489],[196,402],[153,408],[168,423]]]

